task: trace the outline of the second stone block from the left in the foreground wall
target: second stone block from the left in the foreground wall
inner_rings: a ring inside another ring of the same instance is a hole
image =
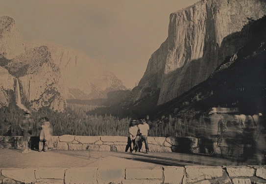
[[[35,171],[36,179],[64,179],[65,170],[68,168],[41,168]],[[39,181],[37,181],[39,182]]]

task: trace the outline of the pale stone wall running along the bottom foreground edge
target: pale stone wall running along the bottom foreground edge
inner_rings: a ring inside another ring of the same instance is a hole
[[[0,168],[0,184],[266,184],[266,166]]]

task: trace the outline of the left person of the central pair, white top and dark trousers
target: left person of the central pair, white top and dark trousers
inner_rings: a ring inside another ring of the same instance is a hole
[[[135,150],[135,139],[138,133],[138,126],[136,125],[137,120],[131,120],[128,128],[128,144],[126,145],[125,152],[127,152],[128,148],[130,148],[130,153]]]

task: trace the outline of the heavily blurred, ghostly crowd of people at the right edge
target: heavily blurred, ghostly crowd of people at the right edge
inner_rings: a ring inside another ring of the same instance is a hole
[[[242,146],[247,144],[251,145],[257,164],[263,164],[266,154],[266,122],[262,113],[219,113],[218,109],[213,107],[209,114],[210,122],[206,128],[209,137],[204,141],[211,145],[211,154],[217,154],[216,145],[223,147],[222,143],[225,143],[239,162],[241,155],[250,154],[242,153]]]

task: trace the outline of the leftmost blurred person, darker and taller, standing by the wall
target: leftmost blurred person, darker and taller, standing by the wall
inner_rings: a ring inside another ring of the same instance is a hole
[[[24,119],[19,124],[23,134],[23,148],[22,153],[28,153],[31,151],[30,136],[32,134],[33,119],[30,118],[30,114],[25,112]]]

